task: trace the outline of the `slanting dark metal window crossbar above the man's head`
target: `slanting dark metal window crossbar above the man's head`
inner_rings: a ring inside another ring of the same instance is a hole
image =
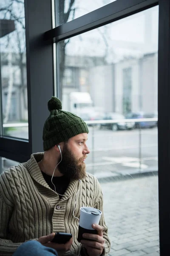
[[[45,32],[44,39],[59,42],[156,6],[158,2],[158,0],[117,0]]]

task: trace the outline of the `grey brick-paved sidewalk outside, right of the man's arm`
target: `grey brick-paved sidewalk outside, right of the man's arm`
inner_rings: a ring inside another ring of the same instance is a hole
[[[101,183],[110,256],[159,256],[158,176]]]

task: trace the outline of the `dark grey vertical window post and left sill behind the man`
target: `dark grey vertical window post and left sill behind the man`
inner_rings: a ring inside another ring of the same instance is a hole
[[[44,102],[54,95],[53,46],[43,41],[45,31],[52,29],[52,3],[49,0],[44,0],[43,4],[41,0],[25,0],[24,7],[29,140],[3,135],[2,101],[0,101],[0,157],[18,162],[25,162],[33,152],[43,150],[42,128],[49,115]],[[46,91],[48,84],[50,84],[49,89]],[[1,94],[0,92],[0,99],[2,99]]]

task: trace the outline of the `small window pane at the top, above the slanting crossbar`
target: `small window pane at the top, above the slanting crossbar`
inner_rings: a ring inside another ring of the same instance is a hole
[[[116,0],[56,0],[57,25],[74,20]]]

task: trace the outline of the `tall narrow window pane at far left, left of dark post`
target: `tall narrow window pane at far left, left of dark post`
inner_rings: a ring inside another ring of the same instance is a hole
[[[0,2],[3,135],[28,139],[24,0]]]

